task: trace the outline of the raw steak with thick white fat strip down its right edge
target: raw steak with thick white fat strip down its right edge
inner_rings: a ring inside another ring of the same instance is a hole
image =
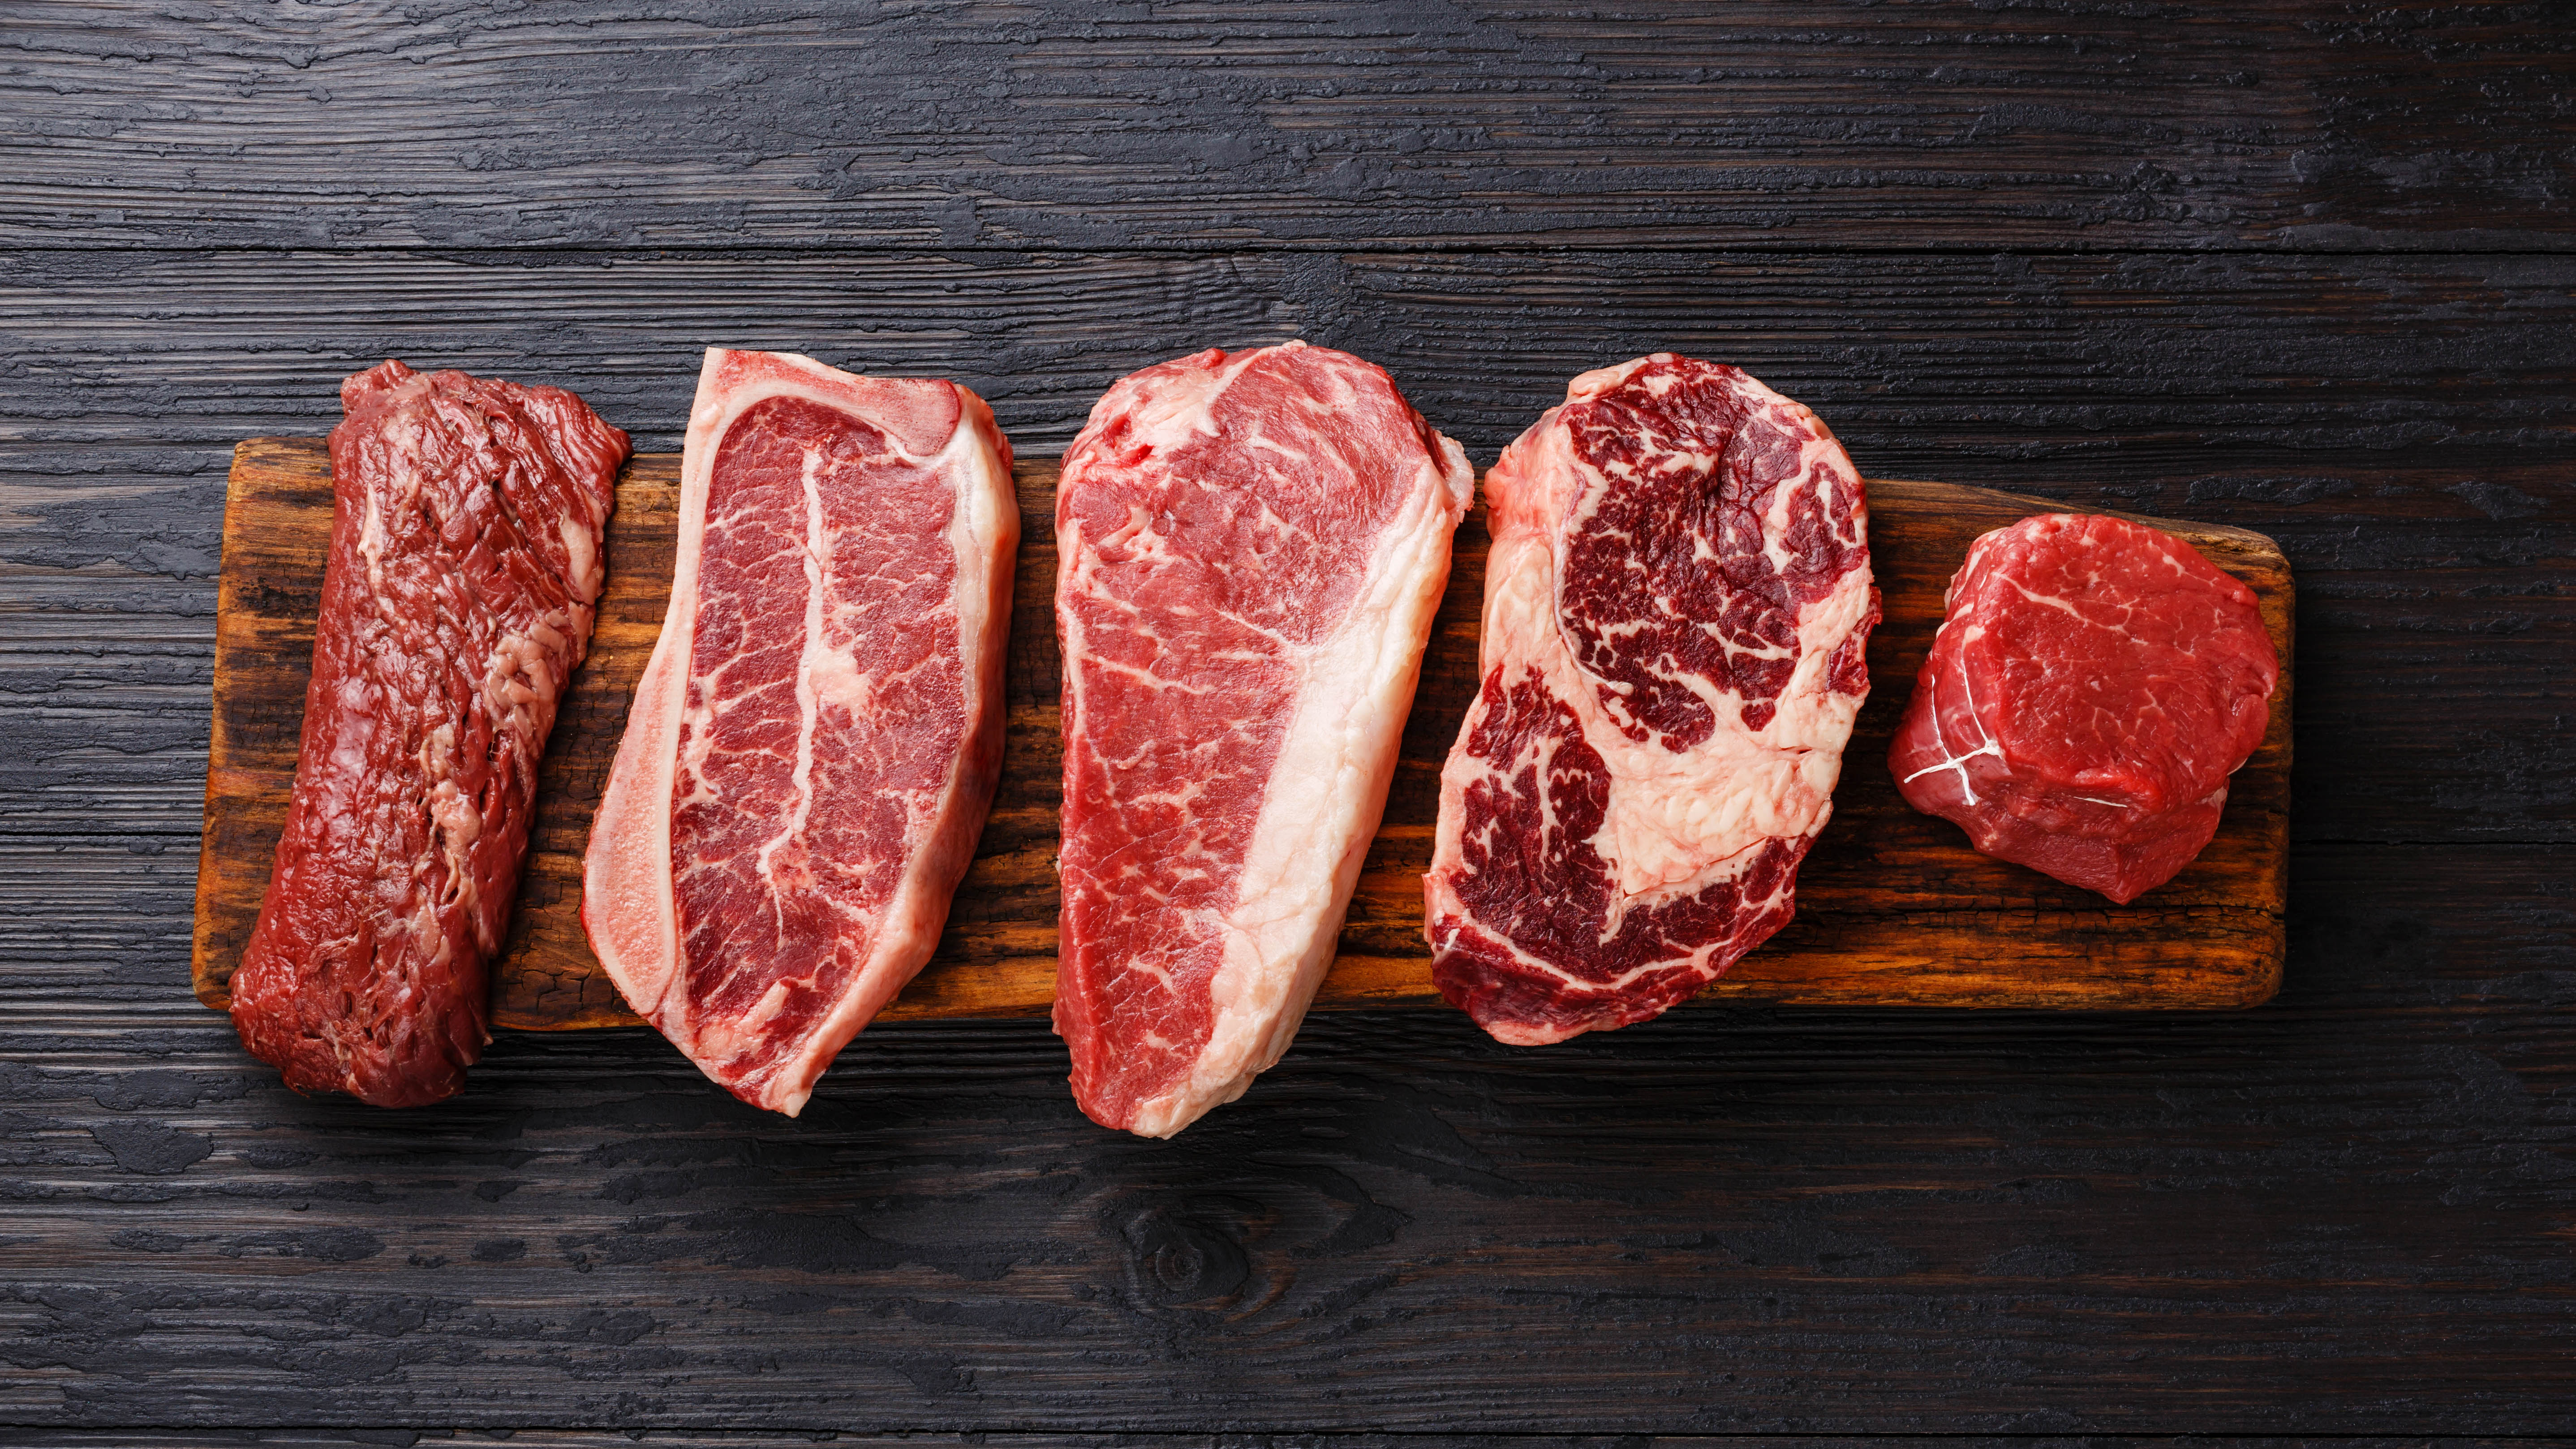
[[[1118,381],[1064,456],[1074,1102],[1170,1138],[1288,1050],[1386,806],[1473,471],[1288,342]]]

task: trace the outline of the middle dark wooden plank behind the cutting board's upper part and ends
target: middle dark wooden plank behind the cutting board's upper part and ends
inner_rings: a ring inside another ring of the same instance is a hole
[[[2334,679],[2300,839],[2576,842],[2576,713],[2535,685],[2576,651],[2576,257],[2458,255],[0,255],[0,561],[46,610],[18,687],[62,682],[0,739],[0,816],[193,849],[232,445],[327,430],[386,355],[577,386],[659,450],[708,340],[806,350],[963,378],[1051,453],[1123,371],[1298,332],[1479,461],[1680,347],[1873,476],[2254,528]]]

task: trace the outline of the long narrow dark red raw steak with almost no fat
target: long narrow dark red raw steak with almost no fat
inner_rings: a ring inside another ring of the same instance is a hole
[[[232,1024],[296,1091],[420,1107],[489,1040],[626,435],[569,391],[402,363],[340,407],[296,790]]]

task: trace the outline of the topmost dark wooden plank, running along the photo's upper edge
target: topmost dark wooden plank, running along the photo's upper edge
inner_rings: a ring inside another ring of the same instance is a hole
[[[21,0],[77,247],[2576,245],[2545,8]]]

